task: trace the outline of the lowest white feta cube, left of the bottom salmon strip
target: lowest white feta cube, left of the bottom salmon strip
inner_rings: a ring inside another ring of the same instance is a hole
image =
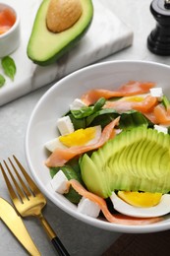
[[[100,208],[97,204],[83,197],[78,204],[78,212],[86,216],[97,218],[100,212]]]

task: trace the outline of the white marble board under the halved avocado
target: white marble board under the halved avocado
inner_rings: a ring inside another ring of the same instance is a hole
[[[1,0],[15,7],[21,17],[21,44],[11,56],[17,66],[15,81],[6,79],[0,89],[0,105],[54,83],[60,78],[133,43],[133,31],[98,0],[93,0],[92,24],[83,39],[57,63],[46,67],[33,64],[27,56],[28,37],[42,0]],[[0,73],[3,71],[0,66]]]

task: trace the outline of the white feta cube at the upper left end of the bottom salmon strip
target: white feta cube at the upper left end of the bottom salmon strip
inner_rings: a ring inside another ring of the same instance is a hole
[[[68,178],[61,169],[54,175],[50,183],[57,193],[64,194],[69,190]]]

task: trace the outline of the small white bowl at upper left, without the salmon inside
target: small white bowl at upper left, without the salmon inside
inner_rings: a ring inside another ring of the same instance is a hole
[[[20,45],[20,17],[18,12],[11,6],[0,3],[0,10],[8,8],[16,15],[16,22],[7,32],[0,34],[0,58],[14,52]]]

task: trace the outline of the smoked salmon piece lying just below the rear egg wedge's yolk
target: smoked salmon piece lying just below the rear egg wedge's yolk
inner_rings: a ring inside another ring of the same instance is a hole
[[[131,99],[120,99],[115,101],[107,101],[104,108],[114,108],[119,113],[126,112],[128,110],[138,110],[142,113],[149,112],[158,103],[157,97],[155,96],[145,96],[142,101],[137,102]]]

